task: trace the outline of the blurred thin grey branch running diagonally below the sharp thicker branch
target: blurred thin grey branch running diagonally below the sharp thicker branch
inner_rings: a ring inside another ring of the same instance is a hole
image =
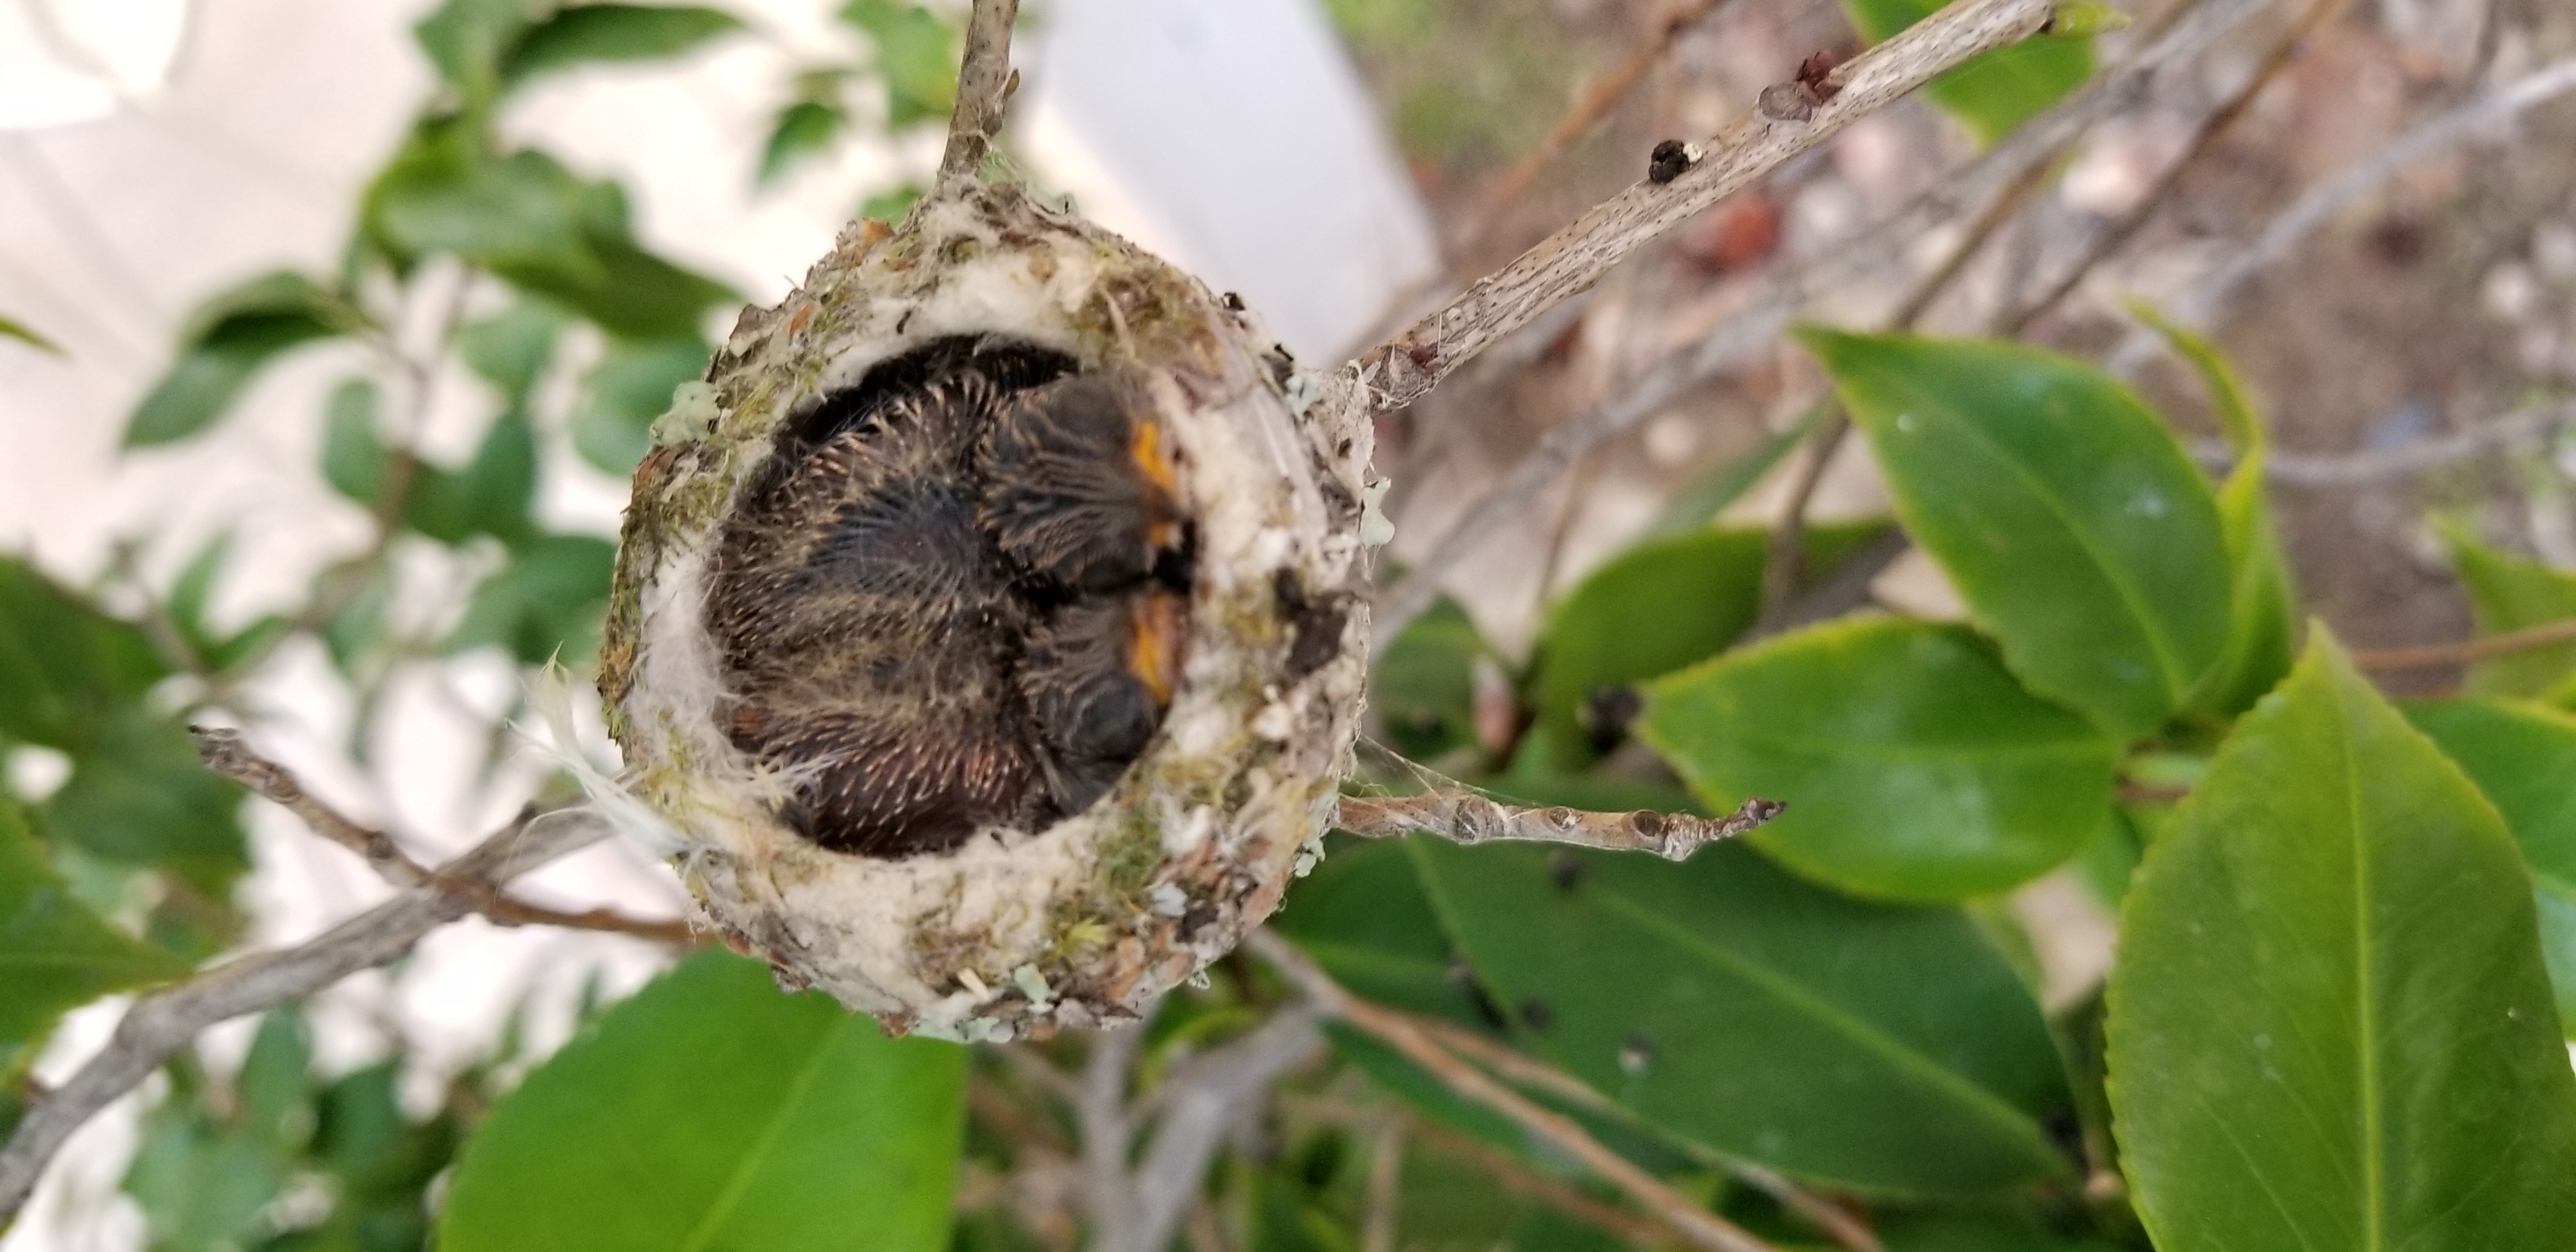
[[[1383,652],[1406,623],[1422,616],[1440,595],[1440,582],[1458,569],[1458,562],[1507,518],[1528,507],[1577,456],[1664,412],[1664,407],[1703,381],[1767,348],[1816,294],[1886,270],[1904,258],[1904,250],[1922,232],[1965,211],[1971,204],[1986,204],[1989,196],[2022,178],[2032,165],[2053,162],[2092,124],[2138,100],[2159,70],[2197,57],[2264,5],[2267,0],[2187,0],[2187,10],[2172,26],[2117,70],[2102,75],[2092,88],[2022,124],[1991,152],[1955,170],[1875,227],[1772,278],[1765,291],[1752,296],[1734,317],[1710,327],[1698,343],[1680,345],[1649,366],[1628,392],[1587,415],[1558,422],[1502,482],[1468,505],[1458,523],[1432,541],[1430,551],[1401,580],[1378,593],[1378,603],[1370,605],[1376,649]]]

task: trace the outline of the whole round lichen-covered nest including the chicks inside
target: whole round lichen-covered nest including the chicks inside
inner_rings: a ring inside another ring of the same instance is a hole
[[[726,940],[894,1033],[1012,1038],[1260,925],[1350,768],[1383,528],[1324,394],[1012,185],[747,309],[654,425],[600,659]]]

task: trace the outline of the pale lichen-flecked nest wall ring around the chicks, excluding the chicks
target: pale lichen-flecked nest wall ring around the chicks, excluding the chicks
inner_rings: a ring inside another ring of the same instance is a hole
[[[1190,531],[1177,680],[1079,811],[920,855],[829,850],[791,819],[811,778],[729,732],[719,541],[801,417],[958,343],[1059,353],[1149,407]],[[1231,951],[1311,860],[1350,770],[1378,526],[1352,392],[1298,371],[1231,296],[1015,185],[858,222],[786,301],[747,309],[654,425],[600,659],[623,786],[721,935],[783,987],[940,1038],[1133,1020]]]

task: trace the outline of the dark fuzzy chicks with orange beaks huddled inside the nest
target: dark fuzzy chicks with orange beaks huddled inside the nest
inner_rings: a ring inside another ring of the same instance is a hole
[[[894,386],[827,399],[719,541],[732,737],[824,848],[940,853],[1087,809],[1170,708],[1170,448],[1133,389],[1030,356],[878,366]]]

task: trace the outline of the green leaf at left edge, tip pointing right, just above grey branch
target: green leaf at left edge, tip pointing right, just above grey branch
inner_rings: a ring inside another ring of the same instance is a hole
[[[188,974],[188,963],[103,922],[44,860],[15,804],[0,801],[0,1056],[67,1010]]]

